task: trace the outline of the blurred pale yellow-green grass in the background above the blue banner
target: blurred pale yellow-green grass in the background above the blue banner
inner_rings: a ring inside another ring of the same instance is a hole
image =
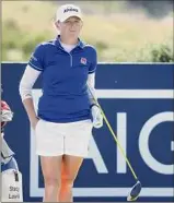
[[[60,2],[59,2],[60,3]],[[57,2],[2,2],[2,60],[28,60],[34,47],[54,38]],[[79,2],[84,11],[81,38],[96,46],[100,61],[151,61],[152,50],[166,45],[173,53],[173,15],[149,19],[123,3]],[[109,11],[109,12],[108,12]],[[173,59],[172,59],[173,60]]]

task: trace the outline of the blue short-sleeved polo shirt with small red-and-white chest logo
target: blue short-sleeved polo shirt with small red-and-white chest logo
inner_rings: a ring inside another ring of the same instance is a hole
[[[94,47],[79,44],[67,52],[60,36],[39,44],[28,64],[43,76],[43,95],[38,101],[38,117],[51,122],[73,122],[91,118],[86,80],[96,70]]]

